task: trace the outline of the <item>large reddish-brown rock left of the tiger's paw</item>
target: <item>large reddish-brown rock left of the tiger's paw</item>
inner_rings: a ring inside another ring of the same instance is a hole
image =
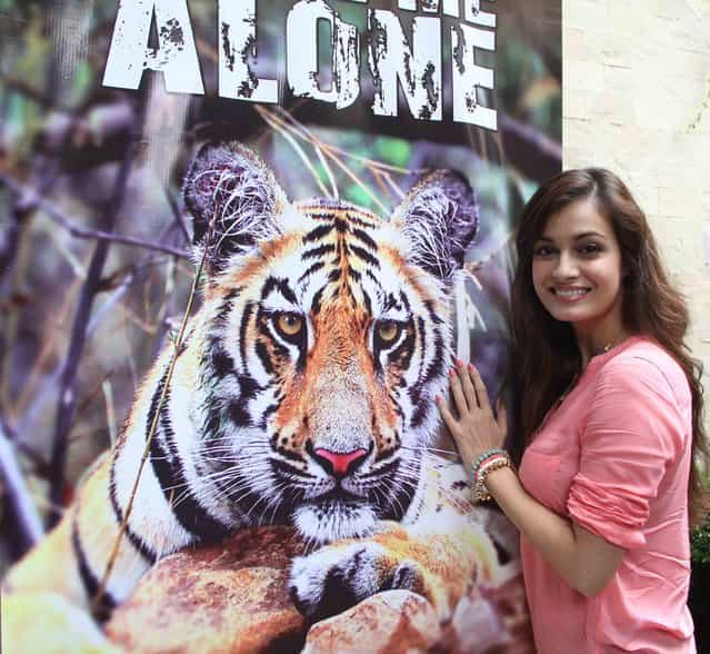
[[[298,652],[306,624],[287,582],[302,552],[291,529],[262,527],[168,556],[113,612],[107,636],[137,654]]]

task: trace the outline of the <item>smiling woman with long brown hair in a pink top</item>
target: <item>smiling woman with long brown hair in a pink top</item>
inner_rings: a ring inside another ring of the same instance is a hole
[[[521,534],[538,652],[694,652],[689,508],[708,462],[688,313],[631,194],[601,169],[541,187],[517,236],[513,445],[476,369],[437,398],[472,475]],[[458,417],[457,415],[458,414]]]

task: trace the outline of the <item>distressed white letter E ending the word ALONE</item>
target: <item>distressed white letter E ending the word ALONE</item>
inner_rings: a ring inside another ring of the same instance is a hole
[[[488,129],[498,129],[498,115],[494,109],[478,103],[477,87],[493,89],[493,71],[476,65],[476,48],[496,50],[496,34],[460,24],[451,30],[453,91],[453,120],[470,122]]]

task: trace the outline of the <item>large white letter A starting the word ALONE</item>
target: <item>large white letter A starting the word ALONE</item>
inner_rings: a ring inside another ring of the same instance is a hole
[[[149,48],[153,16],[158,48]],[[172,93],[204,93],[187,0],[122,0],[103,86],[137,89],[144,70],[163,73]]]

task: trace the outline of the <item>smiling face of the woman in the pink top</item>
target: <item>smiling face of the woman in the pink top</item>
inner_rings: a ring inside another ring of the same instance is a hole
[[[621,329],[622,277],[619,242],[591,199],[550,216],[533,244],[538,298],[554,319],[572,323],[578,333],[613,337]]]

